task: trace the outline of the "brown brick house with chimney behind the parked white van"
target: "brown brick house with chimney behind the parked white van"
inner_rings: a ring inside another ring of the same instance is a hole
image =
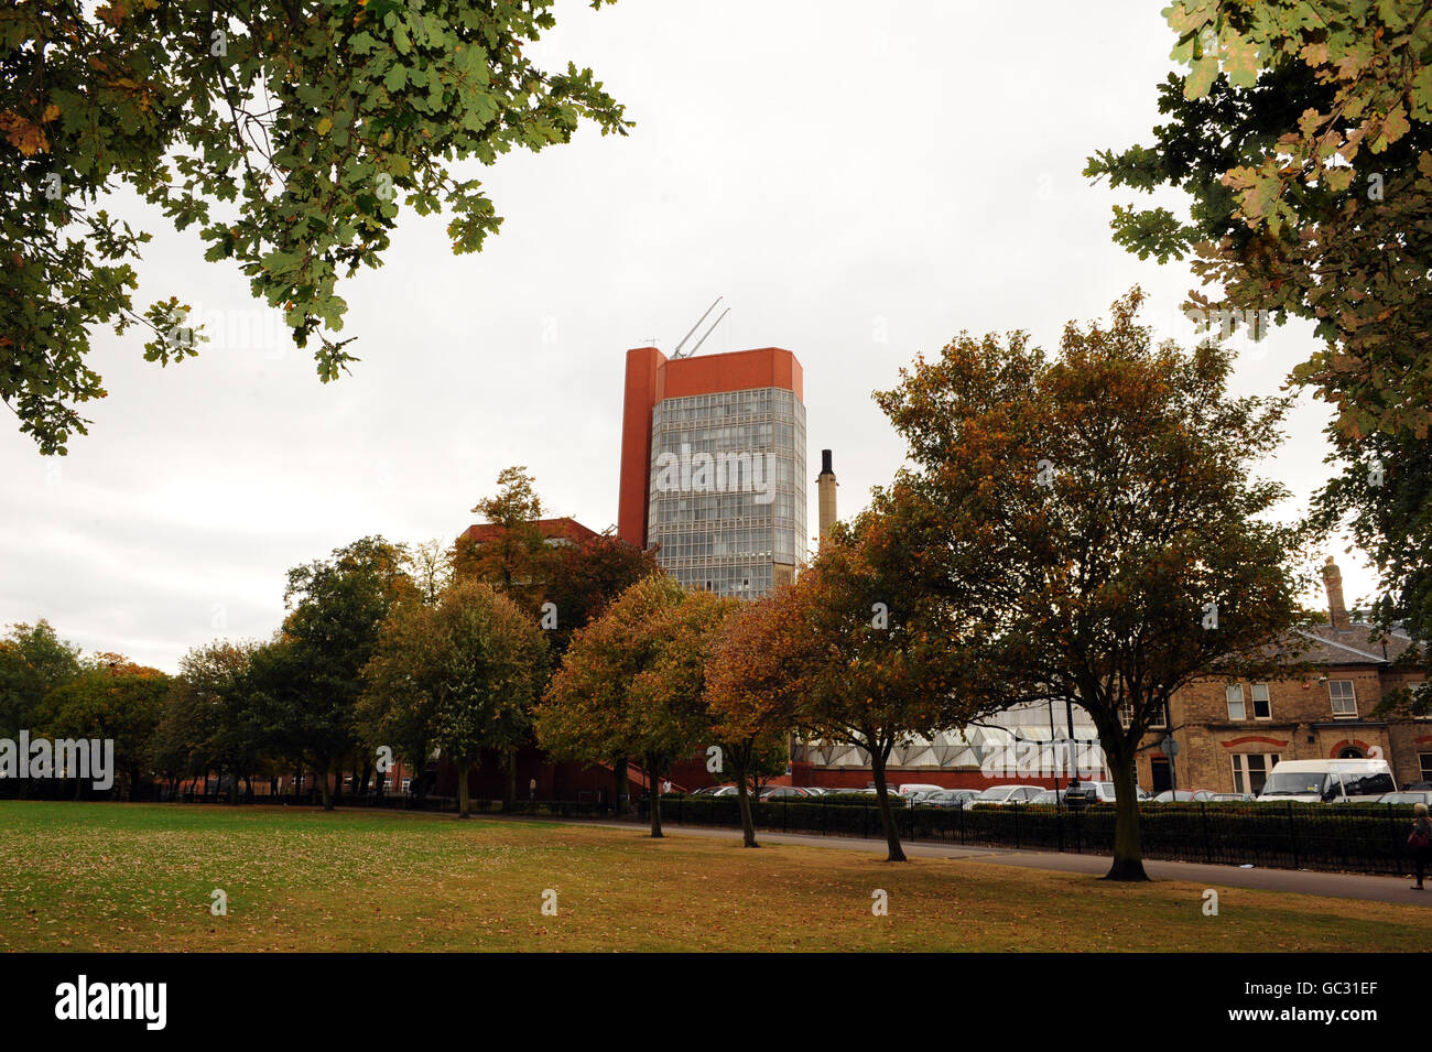
[[[1315,671],[1305,680],[1267,683],[1199,680],[1169,703],[1179,749],[1173,776],[1179,789],[1253,793],[1279,760],[1382,757],[1398,786],[1432,780],[1432,717],[1376,720],[1383,694],[1416,687],[1426,678],[1393,661],[1412,646],[1393,633],[1375,640],[1369,625],[1353,623],[1343,604],[1342,574],[1329,558],[1323,567],[1327,624],[1296,630],[1306,646],[1302,660]],[[1164,727],[1150,731],[1138,756],[1138,784],[1170,787]]]

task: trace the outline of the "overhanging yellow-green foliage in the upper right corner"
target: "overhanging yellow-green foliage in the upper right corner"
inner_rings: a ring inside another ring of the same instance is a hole
[[[1189,195],[1114,209],[1140,258],[1191,258],[1220,328],[1303,318],[1320,346],[1293,381],[1335,409],[1323,530],[1352,528],[1380,574],[1373,615],[1432,640],[1432,9],[1425,3],[1174,3],[1148,146],[1087,175]],[[1408,660],[1418,648],[1406,651]],[[1426,651],[1422,651],[1423,654]]]

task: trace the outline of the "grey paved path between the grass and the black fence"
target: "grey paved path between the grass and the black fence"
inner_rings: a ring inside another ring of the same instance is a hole
[[[513,817],[531,816],[514,814]],[[606,826],[609,829],[644,829],[644,826],[630,822],[557,820],[581,826]],[[674,833],[676,836],[705,836],[727,840],[740,837],[739,829],[677,826],[664,819],[662,822],[662,832]],[[765,843],[808,844],[812,847],[836,847],[848,852],[885,854],[884,839],[765,832],[758,832],[758,837]],[[1050,869],[1064,873],[1091,873],[1097,876],[1108,872],[1110,860],[1107,854],[1020,852],[1010,847],[959,847],[955,844],[934,843],[905,843],[905,853],[927,859],[974,860],[995,866],[1021,866],[1024,869]],[[1426,892],[1413,892],[1411,890],[1411,877],[1319,873],[1300,869],[1242,869],[1239,866],[1209,866],[1201,862],[1161,862],[1157,859],[1146,859],[1144,869],[1154,880],[1187,880],[1207,886],[1254,887],[1266,892],[1297,892],[1300,895],[1326,895],[1335,899],[1366,899],[1370,902],[1432,906],[1432,885],[1428,886],[1429,890]]]

